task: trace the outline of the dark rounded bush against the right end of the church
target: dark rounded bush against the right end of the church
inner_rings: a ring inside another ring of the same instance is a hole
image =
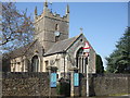
[[[96,73],[104,73],[103,61],[99,54],[96,54]]]

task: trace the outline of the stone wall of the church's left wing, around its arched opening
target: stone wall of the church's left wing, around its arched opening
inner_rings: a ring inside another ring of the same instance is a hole
[[[20,51],[21,52],[21,51]],[[15,54],[15,52],[14,52]],[[15,58],[11,58],[10,60],[10,66],[11,71],[10,72],[30,72],[30,66],[31,66],[31,60],[32,58],[37,56],[39,60],[39,70],[38,72],[42,72],[43,69],[43,48],[38,44],[38,41],[34,42],[25,49],[25,53],[17,56]]]

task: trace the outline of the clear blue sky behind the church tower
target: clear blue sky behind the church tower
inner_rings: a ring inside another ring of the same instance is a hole
[[[80,34],[80,27],[96,53],[104,62],[115,49],[116,41],[125,33],[128,26],[127,2],[52,2],[49,8],[62,16],[69,4],[69,37]],[[43,2],[17,2],[17,9],[28,9],[28,14],[34,16],[35,7],[38,14],[42,13]]]

